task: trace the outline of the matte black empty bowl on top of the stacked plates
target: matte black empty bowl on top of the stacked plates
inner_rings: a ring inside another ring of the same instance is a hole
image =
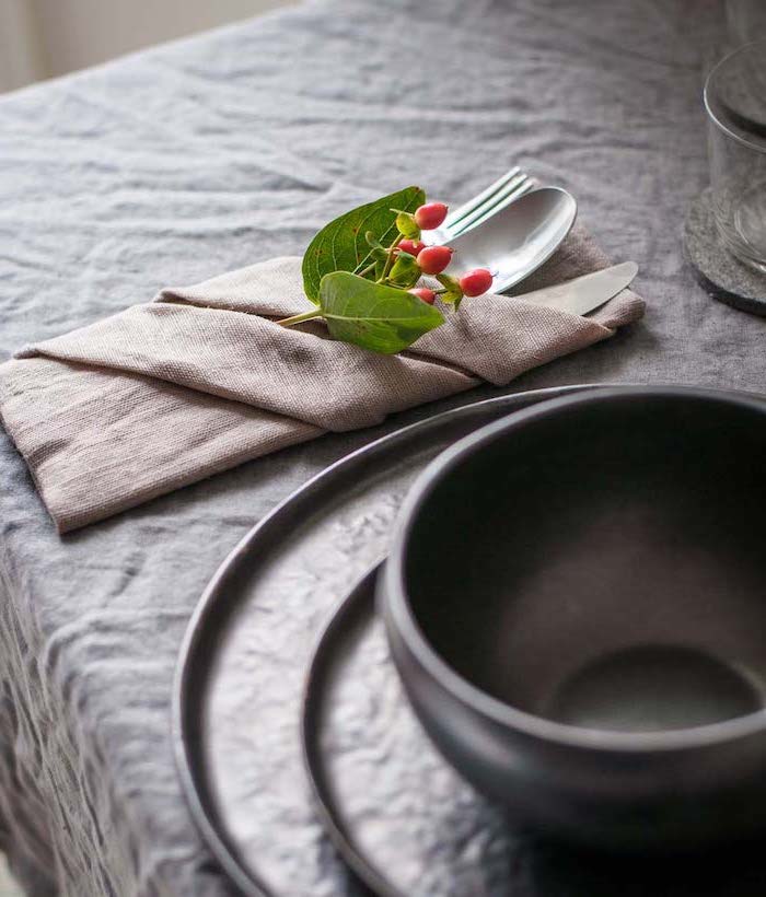
[[[423,473],[379,585],[446,759],[519,822],[617,849],[766,829],[766,404],[600,389]]]

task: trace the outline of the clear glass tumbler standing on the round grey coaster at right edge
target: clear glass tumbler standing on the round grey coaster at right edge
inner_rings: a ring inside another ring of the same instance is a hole
[[[716,66],[705,107],[718,231],[739,259],[766,273],[766,40]]]

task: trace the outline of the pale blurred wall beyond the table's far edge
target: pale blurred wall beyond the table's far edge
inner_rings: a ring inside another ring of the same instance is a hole
[[[295,0],[0,0],[0,91]]]

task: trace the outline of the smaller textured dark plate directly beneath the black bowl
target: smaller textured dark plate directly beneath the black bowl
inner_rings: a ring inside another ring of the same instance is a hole
[[[306,680],[303,737],[320,812],[380,897],[755,897],[763,847],[646,859],[545,844],[457,778],[409,709],[371,571],[333,616]],[[349,724],[350,723],[350,724]]]

